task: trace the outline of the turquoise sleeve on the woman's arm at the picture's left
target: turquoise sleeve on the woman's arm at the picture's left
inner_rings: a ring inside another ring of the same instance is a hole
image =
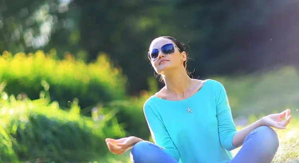
[[[151,133],[152,140],[154,143],[161,147],[168,155],[174,158],[176,161],[179,161],[180,156],[170,138],[163,122],[160,118],[154,113],[149,104],[145,103],[144,113],[147,119],[149,130]]]

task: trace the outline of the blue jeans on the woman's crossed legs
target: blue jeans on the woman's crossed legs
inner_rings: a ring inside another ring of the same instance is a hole
[[[250,132],[240,151],[229,163],[271,163],[279,140],[277,133],[268,126]],[[131,151],[132,163],[178,163],[161,148],[148,141],[137,143]]]

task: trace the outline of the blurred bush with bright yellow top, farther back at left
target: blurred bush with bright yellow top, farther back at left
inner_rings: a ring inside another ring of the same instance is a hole
[[[14,94],[23,92],[30,99],[39,98],[43,89],[40,81],[47,81],[52,101],[67,107],[68,101],[77,98],[81,108],[100,102],[124,99],[126,78],[120,69],[111,65],[109,58],[101,54],[93,63],[85,64],[66,53],[64,60],[57,60],[54,50],[49,54],[0,55],[0,82],[5,81],[5,91]]]

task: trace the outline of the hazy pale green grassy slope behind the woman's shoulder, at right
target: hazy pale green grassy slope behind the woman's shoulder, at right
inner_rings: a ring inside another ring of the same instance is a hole
[[[271,114],[285,108],[299,116],[299,111],[296,111],[299,109],[299,72],[294,67],[212,79],[224,85],[234,117]]]

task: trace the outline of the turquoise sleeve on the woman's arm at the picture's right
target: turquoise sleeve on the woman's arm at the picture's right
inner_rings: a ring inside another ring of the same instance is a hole
[[[232,144],[232,140],[237,130],[225,88],[220,82],[217,82],[215,86],[215,98],[220,143],[226,150],[231,151],[236,149]]]

